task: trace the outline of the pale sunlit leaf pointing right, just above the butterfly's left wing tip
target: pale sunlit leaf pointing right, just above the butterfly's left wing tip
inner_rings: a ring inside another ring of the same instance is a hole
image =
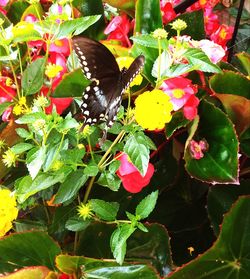
[[[76,36],[85,31],[89,26],[100,19],[100,15],[85,16],[72,20],[66,20],[59,25],[59,31],[55,34],[55,39],[61,39],[70,35]]]

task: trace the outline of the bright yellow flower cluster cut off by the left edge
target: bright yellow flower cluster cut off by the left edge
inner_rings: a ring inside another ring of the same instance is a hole
[[[9,189],[0,189],[0,237],[12,228],[12,221],[17,215],[15,197]]]

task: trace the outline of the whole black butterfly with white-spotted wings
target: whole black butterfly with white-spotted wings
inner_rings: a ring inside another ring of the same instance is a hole
[[[105,122],[111,127],[121,105],[122,93],[144,65],[138,56],[128,70],[120,71],[113,54],[101,43],[85,37],[75,37],[73,49],[81,68],[91,84],[83,92],[81,110],[85,116],[82,127]]]

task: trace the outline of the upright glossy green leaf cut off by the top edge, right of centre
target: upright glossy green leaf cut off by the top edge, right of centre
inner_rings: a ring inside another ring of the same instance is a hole
[[[135,33],[150,34],[162,28],[160,1],[138,0],[135,12]]]

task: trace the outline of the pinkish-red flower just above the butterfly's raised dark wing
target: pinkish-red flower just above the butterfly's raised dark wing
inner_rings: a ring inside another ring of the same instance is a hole
[[[132,27],[126,14],[115,16],[104,30],[108,40],[119,40],[125,47],[131,47],[128,33]]]

